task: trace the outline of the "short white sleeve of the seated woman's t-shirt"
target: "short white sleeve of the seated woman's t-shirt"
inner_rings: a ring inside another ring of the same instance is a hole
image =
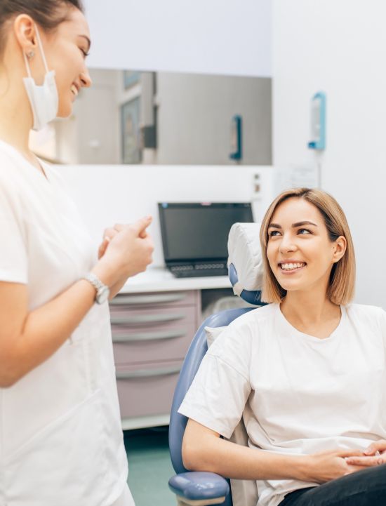
[[[224,334],[206,353],[178,412],[229,439],[251,392],[250,355],[248,338],[240,341],[230,329]]]

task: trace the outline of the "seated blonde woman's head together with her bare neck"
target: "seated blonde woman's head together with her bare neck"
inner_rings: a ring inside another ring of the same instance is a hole
[[[354,296],[355,256],[350,228],[338,202],[318,189],[290,189],[275,199],[260,229],[265,255],[262,300],[305,333],[328,337],[340,322],[340,305]],[[310,307],[312,305],[312,307]],[[319,307],[319,322],[307,323]]]

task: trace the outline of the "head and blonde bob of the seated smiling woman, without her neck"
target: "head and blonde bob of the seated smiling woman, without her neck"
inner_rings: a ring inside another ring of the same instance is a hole
[[[307,188],[283,192],[269,206],[260,241],[267,251],[262,293],[265,302],[280,302],[288,288],[307,288],[307,284],[310,289],[321,288],[335,304],[352,300],[354,245],[345,213],[331,195]],[[307,258],[312,261],[307,262]],[[303,273],[288,266],[295,262],[304,264],[300,267]],[[295,277],[284,278],[287,273]]]

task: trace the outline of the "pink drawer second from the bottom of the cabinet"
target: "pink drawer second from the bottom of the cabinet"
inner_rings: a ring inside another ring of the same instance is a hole
[[[185,320],[144,328],[113,326],[115,364],[184,359],[197,324]]]

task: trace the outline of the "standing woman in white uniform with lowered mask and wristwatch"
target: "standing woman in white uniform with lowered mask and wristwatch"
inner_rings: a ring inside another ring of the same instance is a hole
[[[108,229],[97,260],[28,147],[91,85],[89,46],[78,0],[0,3],[1,506],[133,505],[107,299],[151,262],[151,218]]]

